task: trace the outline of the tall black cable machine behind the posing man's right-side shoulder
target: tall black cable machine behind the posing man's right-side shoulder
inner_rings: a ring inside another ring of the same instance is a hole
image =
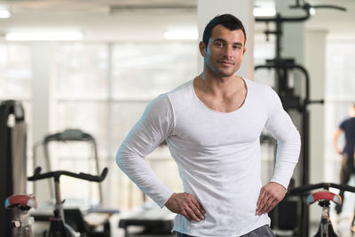
[[[299,17],[284,17],[280,13],[277,13],[275,17],[271,18],[256,18],[256,22],[264,22],[266,23],[267,29],[264,31],[264,34],[266,35],[266,41],[269,40],[270,35],[276,36],[275,40],[275,58],[274,59],[267,59],[264,65],[258,65],[255,67],[255,70],[260,70],[260,69],[268,69],[271,70],[273,69],[275,72],[275,91],[279,94],[282,105],[284,109],[287,112],[290,112],[291,110],[296,111],[299,115],[302,116],[302,121],[301,121],[301,132],[302,132],[302,155],[300,159],[301,163],[301,169],[300,169],[300,186],[305,186],[309,184],[309,172],[310,172],[310,165],[309,165],[309,117],[310,113],[308,110],[308,107],[311,104],[319,103],[323,104],[324,100],[319,99],[319,100],[311,100],[310,99],[310,76],[308,74],[308,71],[306,70],[305,67],[303,67],[300,64],[296,63],[296,59],[290,59],[290,58],[283,58],[281,56],[281,51],[282,51],[282,45],[281,45],[281,36],[283,33],[283,23],[285,22],[301,22],[304,20],[308,20],[311,18],[311,11],[312,9],[317,9],[317,8],[330,8],[330,9],[335,9],[335,10],[340,10],[340,11],[346,11],[345,8],[336,6],[336,5],[329,5],[329,4],[319,4],[319,5],[311,5],[308,3],[305,3],[303,0],[296,0],[295,5],[291,5],[290,8],[292,9],[302,9],[304,10],[304,15],[299,16]],[[269,23],[272,22],[275,25],[275,30],[270,30],[269,29]],[[295,91],[295,72],[298,71],[301,73],[301,75],[304,75],[304,97],[302,98],[300,95],[296,94]],[[292,183],[292,182],[291,182]],[[283,203],[282,203],[283,202]],[[276,212],[279,212],[279,214],[275,214],[276,217],[281,221],[282,219],[284,220],[284,225],[285,225],[285,218],[282,218],[281,216],[285,216],[284,211],[288,212],[288,215],[292,215],[289,213],[289,204],[291,204],[292,207],[294,207],[295,212],[293,214],[297,213],[296,205],[292,205],[292,202],[287,203],[286,201],[281,201],[279,210],[276,210]],[[282,208],[283,207],[283,208]],[[282,210],[284,209],[284,211]],[[298,209],[300,212],[300,215],[298,215],[298,221],[291,221],[294,223],[294,226],[289,225],[289,218],[288,218],[288,226],[280,226],[282,225],[281,223],[278,223],[276,221],[276,225],[279,225],[277,227],[286,227],[286,229],[291,229],[293,231],[297,232],[297,236],[303,236],[306,237],[309,234],[309,209],[306,204],[306,202],[301,199],[301,206],[300,209]],[[296,214],[297,215],[297,214]],[[297,217],[295,217],[297,219]],[[298,223],[297,223],[298,222]],[[298,230],[296,230],[296,226],[298,227]]]

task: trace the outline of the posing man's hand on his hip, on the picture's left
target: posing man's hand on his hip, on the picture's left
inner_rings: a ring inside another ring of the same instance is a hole
[[[192,221],[203,220],[203,214],[206,213],[205,209],[201,206],[192,194],[172,194],[170,199],[165,203],[165,207],[172,212],[181,214],[186,219]]]

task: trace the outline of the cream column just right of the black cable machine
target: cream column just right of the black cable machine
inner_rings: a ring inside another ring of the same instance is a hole
[[[307,31],[305,35],[305,66],[311,78],[311,99],[325,99],[326,71],[326,30]],[[310,106],[310,181],[311,184],[324,182],[324,137],[325,137],[325,106]],[[311,207],[310,220],[319,222],[320,209]]]

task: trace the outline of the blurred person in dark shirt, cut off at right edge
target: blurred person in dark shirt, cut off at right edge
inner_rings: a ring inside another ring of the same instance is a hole
[[[355,104],[349,109],[350,117],[340,123],[339,128],[335,130],[333,137],[333,146],[337,154],[343,155],[342,170],[340,171],[340,184],[347,185],[351,174],[355,173],[354,168],[354,146],[355,146]],[[345,135],[345,146],[343,152],[339,149],[338,138],[341,134]],[[339,195],[344,199],[343,191]],[[340,214],[343,209],[343,201],[341,205],[335,206],[336,214]]]

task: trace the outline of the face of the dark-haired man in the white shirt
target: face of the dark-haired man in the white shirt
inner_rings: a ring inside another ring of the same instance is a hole
[[[212,29],[209,44],[200,43],[205,69],[217,76],[229,77],[241,67],[244,35],[241,29],[229,30],[222,25]]]

